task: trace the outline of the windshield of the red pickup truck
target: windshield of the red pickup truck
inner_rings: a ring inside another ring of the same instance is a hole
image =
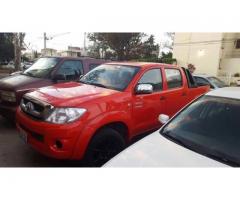
[[[123,91],[138,71],[139,67],[111,64],[100,65],[83,76],[80,82]]]

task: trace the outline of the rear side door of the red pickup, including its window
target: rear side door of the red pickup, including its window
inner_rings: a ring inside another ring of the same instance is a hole
[[[165,92],[165,114],[170,117],[187,102],[187,88],[184,87],[183,74],[177,68],[164,68],[167,91]]]

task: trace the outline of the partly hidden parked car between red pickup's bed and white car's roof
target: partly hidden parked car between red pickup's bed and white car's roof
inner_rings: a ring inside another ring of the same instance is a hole
[[[228,85],[221,81],[219,78],[215,76],[210,76],[206,74],[194,75],[194,78],[198,85],[206,85],[209,84],[211,89],[218,89],[222,87],[227,87]]]

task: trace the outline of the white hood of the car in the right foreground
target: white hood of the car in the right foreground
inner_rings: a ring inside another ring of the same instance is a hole
[[[159,131],[133,144],[104,167],[226,167],[163,137]]]

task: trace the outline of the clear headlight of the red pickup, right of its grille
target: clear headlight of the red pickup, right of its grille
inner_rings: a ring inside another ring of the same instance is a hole
[[[54,124],[65,124],[77,120],[86,111],[84,108],[55,108],[46,121]]]

